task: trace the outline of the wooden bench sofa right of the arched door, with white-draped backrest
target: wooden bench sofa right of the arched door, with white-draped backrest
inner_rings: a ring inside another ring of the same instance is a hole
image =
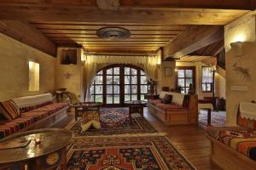
[[[168,125],[197,123],[198,97],[161,91],[160,99],[148,99],[148,110]]]

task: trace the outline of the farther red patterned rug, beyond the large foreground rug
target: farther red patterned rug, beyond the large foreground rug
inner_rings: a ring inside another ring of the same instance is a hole
[[[157,130],[143,117],[130,117],[128,108],[103,108],[100,111],[101,128],[90,128],[81,131],[81,122],[75,122],[69,129],[74,137],[102,136],[126,133],[158,133]]]

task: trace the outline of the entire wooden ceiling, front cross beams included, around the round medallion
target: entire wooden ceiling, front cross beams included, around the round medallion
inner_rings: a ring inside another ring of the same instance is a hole
[[[57,46],[152,53],[192,25],[223,26],[254,8],[255,0],[1,0],[0,20],[26,21]],[[124,27],[131,37],[97,37],[106,26]]]

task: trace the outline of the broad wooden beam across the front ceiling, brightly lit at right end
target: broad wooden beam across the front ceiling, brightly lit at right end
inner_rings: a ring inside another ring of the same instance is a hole
[[[0,3],[0,20],[144,23],[162,25],[225,25],[247,10],[207,8],[124,8],[102,10],[64,3]]]

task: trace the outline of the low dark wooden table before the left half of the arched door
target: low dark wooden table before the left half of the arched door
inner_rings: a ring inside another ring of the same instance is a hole
[[[75,120],[76,121],[78,120],[79,111],[84,112],[91,108],[96,108],[97,110],[99,110],[100,106],[102,106],[101,102],[84,102],[84,103],[77,103],[77,104],[71,105],[71,107],[75,108]]]

